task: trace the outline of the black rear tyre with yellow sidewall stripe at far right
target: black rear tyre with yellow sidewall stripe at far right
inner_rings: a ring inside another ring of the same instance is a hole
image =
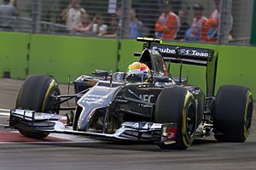
[[[220,87],[212,117],[215,139],[222,142],[244,142],[252,125],[252,92],[235,85]]]

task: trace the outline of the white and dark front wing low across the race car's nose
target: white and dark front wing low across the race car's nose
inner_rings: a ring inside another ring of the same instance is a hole
[[[23,128],[25,131],[38,133],[67,133],[79,134],[97,139],[121,141],[175,143],[177,124],[154,122],[124,122],[115,133],[94,133],[73,130],[61,122],[60,115],[26,110],[10,111],[10,127]]]

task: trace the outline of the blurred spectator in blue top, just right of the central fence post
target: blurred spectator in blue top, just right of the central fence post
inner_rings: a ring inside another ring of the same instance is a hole
[[[132,37],[132,38],[141,37],[142,29],[143,29],[143,22],[140,20],[137,20],[135,10],[131,9],[128,37]]]

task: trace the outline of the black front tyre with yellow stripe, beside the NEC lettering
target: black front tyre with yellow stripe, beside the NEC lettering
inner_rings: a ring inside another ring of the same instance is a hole
[[[160,143],[162,149],[186,150],[195,139],[196,106],[193,94],[186,88],[166,88],[155,103],[155,122],[177,123],[175,144]]]

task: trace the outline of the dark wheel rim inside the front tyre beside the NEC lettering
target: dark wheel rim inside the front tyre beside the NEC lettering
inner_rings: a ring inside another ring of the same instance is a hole
[[[192,135],[195,131],[195,107],[190,104],[187,111],[187,133]]]

